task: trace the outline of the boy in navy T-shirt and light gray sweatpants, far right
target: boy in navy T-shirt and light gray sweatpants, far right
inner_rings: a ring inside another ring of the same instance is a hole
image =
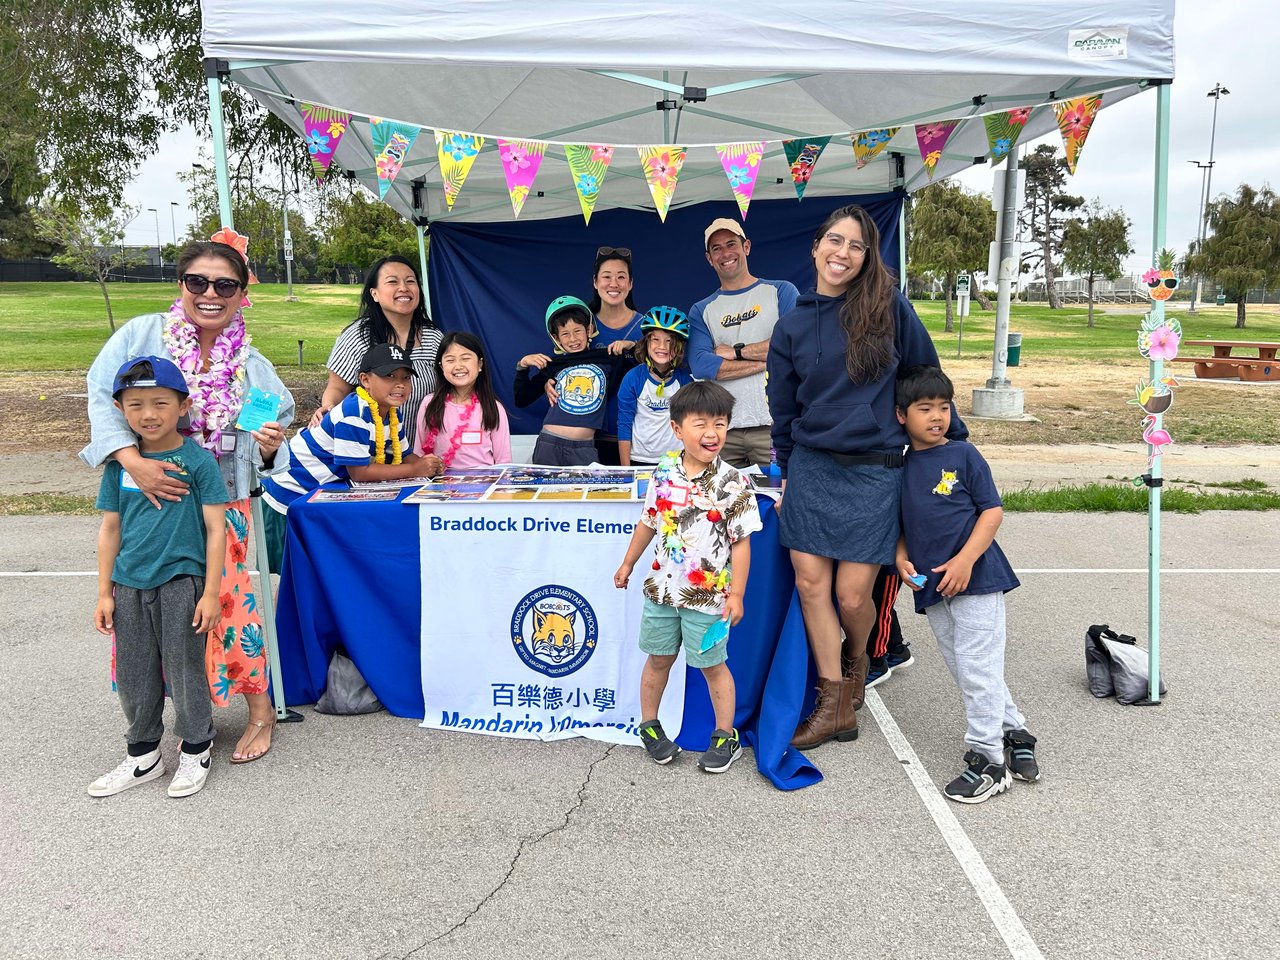
[[[934,366],[910,367],[897,380],[897,419],[911,442],[897,571],[915,591],[915,612],[929,618],[969,721],[965,769],[943,792],[980,804],[1011,777],[1039,780],[1039,767],[1036,737],[1005,686],[1005,593],[1018,577],[996,543],[1004,509],[978,449],[947,440],[954,393]]]

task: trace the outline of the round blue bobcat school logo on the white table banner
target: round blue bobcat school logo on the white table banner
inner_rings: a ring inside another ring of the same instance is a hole
[[[595,653],[595,611],[576,590],[547,584],[525,594],[516,604],[511,641],[530,669],[548,677],[567,676]]]

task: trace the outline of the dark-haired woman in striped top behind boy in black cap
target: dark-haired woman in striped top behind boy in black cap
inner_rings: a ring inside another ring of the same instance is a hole
[[[365,276],[360,292],[360,315],[338,334],[329,353],[329,383],[320,397],[320,408],[311,426],[360,385],[360,361],[370,347],[390,343],[413,361],[413,389],[399,410],[408,442],[417,431],[417,408],[435,393],[435,361],[440,356],[443,334],[426,315],[422,283],[417,268],[401,256],[379,260]]]

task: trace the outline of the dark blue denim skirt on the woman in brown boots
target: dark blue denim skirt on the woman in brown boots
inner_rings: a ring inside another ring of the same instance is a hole
[[[778,539],[787,549],[850,563],[893,563],[901,530],[902,470],[841,466],[823,451],[796,445]]]

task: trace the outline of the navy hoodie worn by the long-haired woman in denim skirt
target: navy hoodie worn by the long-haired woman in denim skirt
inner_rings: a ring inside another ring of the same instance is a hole
[[[855,384],[845,367],[849,337],[840,323],[841,301],[809,291],[773,328],[767,390],[782,476],[797,443],[846,454],[901,453],[906,431],[895,413],[897,371],[918,364],[938,366],[928,330],[906,297],[895,291],[892,361],[874,383]],[[947,435],[969,435],[954,407]]]

